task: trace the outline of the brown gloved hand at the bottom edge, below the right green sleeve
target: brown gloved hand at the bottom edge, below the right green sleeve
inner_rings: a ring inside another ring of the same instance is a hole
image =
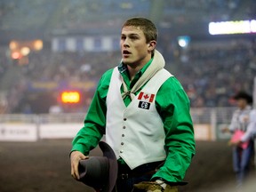
[[[178,188],[176,186],[170,186],[164,183],[165,188],[163,188],[161,186],[162,184],[156,181],[143,181],[135,184],[134,188],[144,190],[146,192],[178,192]]]

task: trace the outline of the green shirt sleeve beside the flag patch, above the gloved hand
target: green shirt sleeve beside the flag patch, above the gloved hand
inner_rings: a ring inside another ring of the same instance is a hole
[[[153,176],[169,182],[184,179],[195,155],[195,139],[190,103],[175,77],[170,77],[156,95],[156,109],[164,122],[166,161]]]

